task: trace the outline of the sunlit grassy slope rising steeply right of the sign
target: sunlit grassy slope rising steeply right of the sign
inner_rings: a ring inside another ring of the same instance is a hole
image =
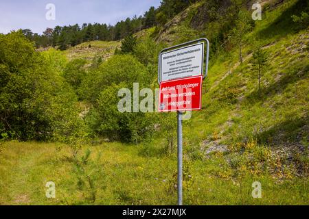
[[[306,137],[309,33],[306,30],[294,34],[293,23],[282,21],[282,16],[290,17],[290,14],[282,15],[284,8],[267,13],[247,36],[242,66],[238,63],[238,51],[233,53],[231,72],[224,54],[211,63],[205,82],[204,110],[195,114],[190,126],[190,131],[198,126],[204,130],[196,130],[199,138],[216,136],[227,144],[245,137],[269,144],[282,144],[286,140],[299,144],[300,136]],[[282,22],[273,28],[273,23],[278,21]],[[280,25],[286,26],[280,29]],[[253,40],[253,36],[258,36],[258,41]],[[255,44],[262,44],[268,53],[262,97],[258,96],[258,77],[250,67]]]

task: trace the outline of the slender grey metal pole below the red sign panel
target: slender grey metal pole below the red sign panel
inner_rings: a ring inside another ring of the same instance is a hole
[[[177,113],[178,118],[178,205],[183,205],[183,120],[182,112]]]

